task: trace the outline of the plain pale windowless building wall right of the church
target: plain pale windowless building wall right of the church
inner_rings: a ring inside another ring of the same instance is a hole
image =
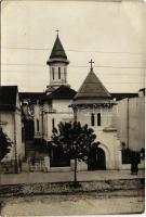
[[[117,102],[112,108],[112,125],[124,148],[141,151],[145,148],[145,91],[140,90],[137,97],[125,98]]]

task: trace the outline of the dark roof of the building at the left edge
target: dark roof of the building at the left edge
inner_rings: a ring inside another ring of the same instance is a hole
[[[17,86],[0,87],[0,111],[15,111]]]

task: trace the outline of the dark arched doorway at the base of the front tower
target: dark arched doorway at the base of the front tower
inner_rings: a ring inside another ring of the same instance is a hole
[[[88,162],[89,170],[104,170],[106,169],[106,156],[103,149],[93,146],[89,154]]]

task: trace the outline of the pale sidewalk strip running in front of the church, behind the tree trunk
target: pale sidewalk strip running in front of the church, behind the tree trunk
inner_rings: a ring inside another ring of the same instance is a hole
[[[144,170],[138,175],[131,175],[130,170],[95,170],[78,171],[78,181],[101,181],[117,179],[140,179],[144,178]],[[23,174],[4,174],[0,175],[0,184],[17,183],[39,183],[39,182],[68,182],[74,180],[74,171],[64,173],[23,173]]]

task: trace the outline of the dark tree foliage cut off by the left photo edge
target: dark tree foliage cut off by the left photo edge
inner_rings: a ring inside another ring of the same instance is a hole
[[[0,162],[10,152],[12,142],[0,128]]]

